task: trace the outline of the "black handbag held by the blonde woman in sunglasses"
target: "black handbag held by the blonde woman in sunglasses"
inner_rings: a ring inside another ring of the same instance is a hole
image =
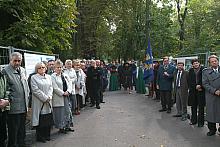
[[[39,127],[49,127],[49,126],[52,126],[54,124],[53,113],[52,113],[52,108],[51,108],[50,103],[48,103],[48,104],[49,104],[49,106],[51,108],[51,113],[41,114],[41,111],[42,111],[42,109],[44,107],[44,104],[42,105],[41,110],[40,110]]]

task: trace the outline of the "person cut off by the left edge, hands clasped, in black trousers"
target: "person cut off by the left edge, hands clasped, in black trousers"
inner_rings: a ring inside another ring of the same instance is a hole
[[[7,111],[9,110],[9,100],[8,100],[8,82],[6,76],[2,73],[0,67],[0,145],[6,147],[7,140]]]

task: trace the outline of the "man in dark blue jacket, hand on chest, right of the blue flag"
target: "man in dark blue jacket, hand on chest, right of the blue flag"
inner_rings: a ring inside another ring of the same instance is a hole
[[[163,65],[158,69],[157,89],[160,90],[162,109],[159,112],[171,113],[172,83],[175,67],[169,64],[169,57],[163,58]]]

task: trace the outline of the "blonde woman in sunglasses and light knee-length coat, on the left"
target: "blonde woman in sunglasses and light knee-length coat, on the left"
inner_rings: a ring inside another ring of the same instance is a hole
[[[39,115],[49,114],[52,112],[52,80],[49,75],[45,74],[46,66],[43,62],[36,64],[35,73],[36,74],[31,77],[32,126],[36,127],[37,141],[45,142],[46,140],[50,140],[51,126],[40,126]]]

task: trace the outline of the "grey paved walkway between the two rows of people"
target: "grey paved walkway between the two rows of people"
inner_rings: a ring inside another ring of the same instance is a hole
[[[220,136],[206,136],[207,127],[190,126],[144,95],[105,93],[101,109],[86,108],[75,117],[75,132],[58,134],[35,147],[219,147]]]

